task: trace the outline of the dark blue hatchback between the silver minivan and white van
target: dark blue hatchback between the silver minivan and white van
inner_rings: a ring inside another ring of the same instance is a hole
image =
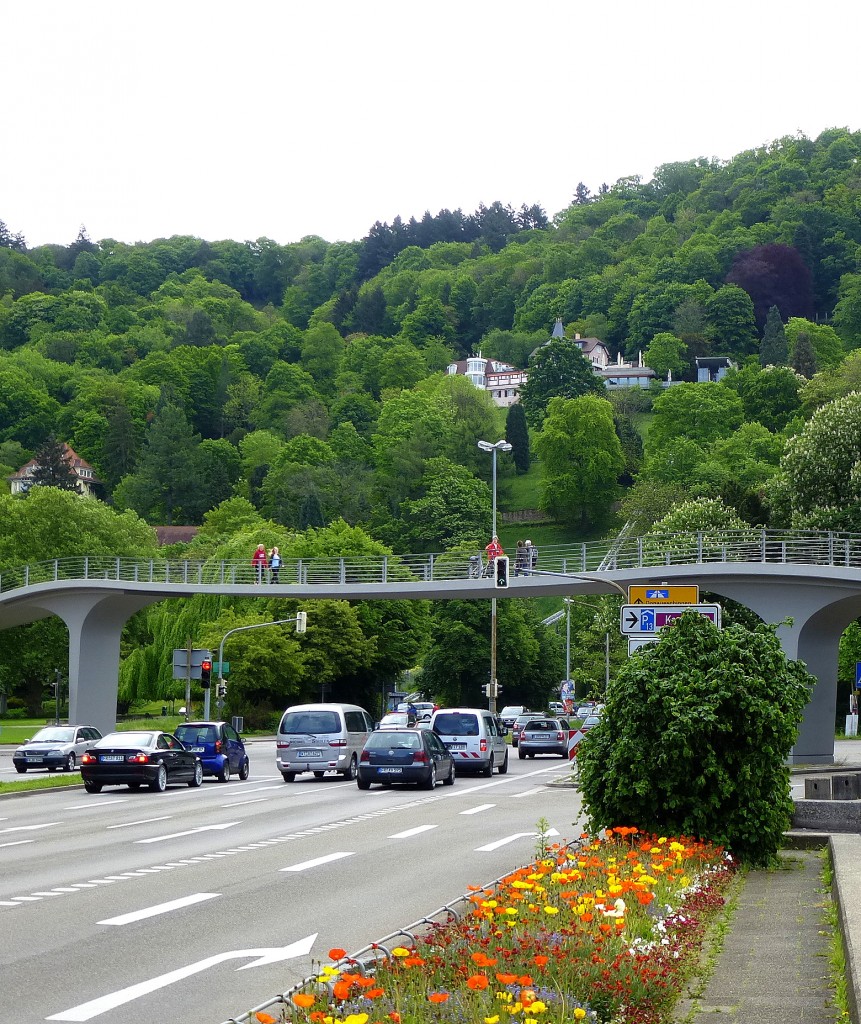
[[[430,729],[380,729],[365,740],[356,776],[359,790],[370,790],[372,782],[416,782],[432,790],[439,779],[454,785],[455,760]]]

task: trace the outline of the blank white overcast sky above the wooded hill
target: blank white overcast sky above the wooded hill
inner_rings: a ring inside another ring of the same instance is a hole
[[[552,216],[858,130],[858,29],[845,0],[0,0],[0,219],[35,246]]]

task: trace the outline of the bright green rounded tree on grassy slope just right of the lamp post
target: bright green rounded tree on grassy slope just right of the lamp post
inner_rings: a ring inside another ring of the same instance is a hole
[[[551,398],[535,452],[544,467],[541,507],[571,525],[600,523],[618,498],[625,468],[613,424],[612,406],[604,398]]]

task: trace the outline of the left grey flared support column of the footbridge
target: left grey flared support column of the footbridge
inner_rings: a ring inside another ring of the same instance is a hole
[[[69,628],[69,721],[117,727],[120,634],[131,615],[152,598],[126,594],[55,595],[42,606]]]

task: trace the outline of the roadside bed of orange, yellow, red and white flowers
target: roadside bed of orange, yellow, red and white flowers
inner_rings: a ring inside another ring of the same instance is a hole
[[[371,963],[330,950],[259,1024],[660,1024],[699,959],[735,864],[679,837],[608,829],[550,847],[462,920]]]

